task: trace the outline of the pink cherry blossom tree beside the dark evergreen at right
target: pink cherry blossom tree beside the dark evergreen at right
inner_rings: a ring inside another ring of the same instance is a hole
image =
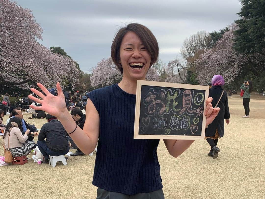
[[[229,26],[229,31],[223,34],[214,48],[206,50],[196,60],[195,71],[199,84],[205,85],[214,75],[222,75],[226,84],[230,85],[241,73],[247,58],[238,55],[233,49],[235,38],[233,32],[236,29],[235,24]]]

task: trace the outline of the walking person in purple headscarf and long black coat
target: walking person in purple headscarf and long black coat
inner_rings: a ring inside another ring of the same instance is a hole
[[[228,97],[227,93],[225,91],[223,92],[223,85],[224,78],[221,75],[214,75],[212,78],[212,87],[209,89],[209,97],[213,98],[213,107],[219,107],[220,111],[214,121],[209,124],[205,131],[205,139],[211,146],[211,150],[208,155],[213,157],[213,159],[217,158],[218,152],[220,152],[220,149],[216,145],[218,142],[218,138],[224,136],[224,119],[226,120],[227,124],[229,124],[230,122]]]

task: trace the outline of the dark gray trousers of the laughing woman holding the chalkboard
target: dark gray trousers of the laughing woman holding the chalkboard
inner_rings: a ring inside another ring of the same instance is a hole
[[[165,199],[162,189],[149,193],[137,193],[135,195],[125,195],[98,188],[96,199]]]

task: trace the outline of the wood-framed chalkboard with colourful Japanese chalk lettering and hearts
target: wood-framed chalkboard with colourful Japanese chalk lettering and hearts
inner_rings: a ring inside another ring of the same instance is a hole
[[[209,86],[137,80],[134,138],[202,140]]]

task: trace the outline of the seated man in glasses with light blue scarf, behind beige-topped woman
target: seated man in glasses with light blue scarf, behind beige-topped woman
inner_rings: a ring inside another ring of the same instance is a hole
[[[19,119],[22,120],[22,125],[21,125],[22,126],[22,131],[21,131],[22,132],[22,135],[25,134],[25,132],[27,131],[27,129],[29,129],[30,133],[34,133],[34,135],[38,135],[38,132],[36,132],[34,128],[32,128],[30,125],[28,125],[25,122],[25,120],[23,119],[23,113],[20,110],[20,108],[15,108],[15,109],[12,110],[12,112],[9,115],[9,118],[6,121],[6,125],[9,123],[10,119],[11,118],[14,118],[14,117],[17,117],[17,118],[19,118]],[[32,141],[33,138],[34,137],[30,136],[27,141]]]

